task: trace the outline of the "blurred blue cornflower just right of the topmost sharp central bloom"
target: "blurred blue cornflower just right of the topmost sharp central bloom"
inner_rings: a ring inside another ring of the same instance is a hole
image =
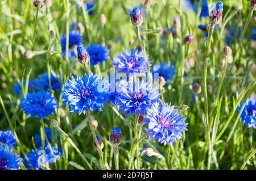
[[[167,63],[160,63],[154,65],[152,68],[152,74],[159,73],[159,77],[163,77],[166,81],[171,81],[176,74],[176,68],[174,65],[168,65]]]

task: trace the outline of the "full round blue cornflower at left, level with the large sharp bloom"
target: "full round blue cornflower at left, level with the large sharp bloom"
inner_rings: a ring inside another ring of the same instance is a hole
[[[53,115],[57,108],[57,101],[46,91],[28,93],[26,98],[22,98],[20,107],[31,117],[38,116],[39,119],[43,119]]]

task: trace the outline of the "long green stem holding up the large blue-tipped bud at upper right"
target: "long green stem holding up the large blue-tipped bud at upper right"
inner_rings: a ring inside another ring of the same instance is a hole
[[[209,27],[209,36],[207,40],[207,47],[205,49],[205,57],[204,57],[204,103],[205,103],[205,122],[207,125],[207,140],[208,140],[208,162],[207,162],[207,169],[210,169],[210,159],[212,158],[212,145],[210,141],[210,130],[209,130],[209,118],[208,118],[208,95],[207,95],[207,69],[208,69],[208,61],[209,61],[209,48],[210,48],[210,41],[212,40],[212,34],[214,30],[214,24],[210,24]]]

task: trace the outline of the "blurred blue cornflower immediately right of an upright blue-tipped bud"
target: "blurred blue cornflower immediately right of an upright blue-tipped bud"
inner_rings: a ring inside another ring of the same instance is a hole
[[[108,60],[109,49],[102,46],[101,44],[91,44],[86,48],[90,56],[90,65],[96,65],[98,63],[102,64],[104,61]]]

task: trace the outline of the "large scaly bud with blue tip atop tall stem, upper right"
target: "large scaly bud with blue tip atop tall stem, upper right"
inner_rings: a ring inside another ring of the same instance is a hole
[[[222,1],[217,2],[216,6],[210,12],[209,19],[211,24],[219,24],[222,20],[223,3]]]

